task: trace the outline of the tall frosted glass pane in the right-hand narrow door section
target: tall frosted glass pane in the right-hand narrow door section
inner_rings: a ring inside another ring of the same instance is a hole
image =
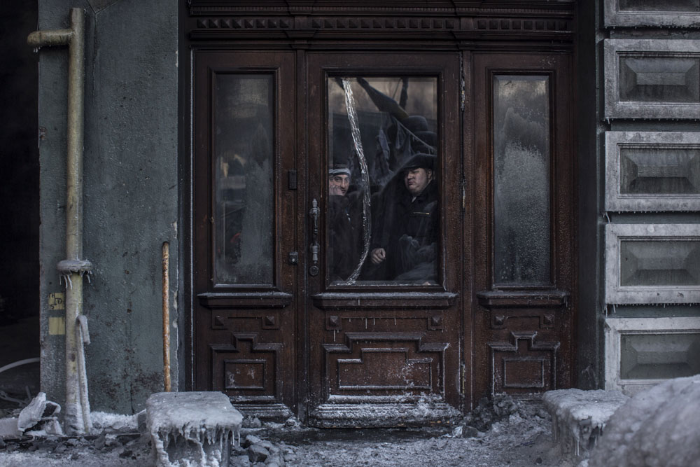
[[[548,285],[549,78],[493,78],[493,281]]]

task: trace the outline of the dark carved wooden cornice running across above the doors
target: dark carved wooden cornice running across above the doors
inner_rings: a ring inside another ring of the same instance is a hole
[[[240,1],[190,2],[190,39],[573,39],[573,1],[512,3],[353,1],[264,7]]]

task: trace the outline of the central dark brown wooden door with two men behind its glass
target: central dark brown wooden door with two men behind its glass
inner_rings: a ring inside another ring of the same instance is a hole
[[[309,424],[462,403],[459,57],[308,55]]]

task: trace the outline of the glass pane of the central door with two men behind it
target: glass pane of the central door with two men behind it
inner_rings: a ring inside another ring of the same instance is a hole
[[[437,284],[437,78],[329,77],[328,278]]]

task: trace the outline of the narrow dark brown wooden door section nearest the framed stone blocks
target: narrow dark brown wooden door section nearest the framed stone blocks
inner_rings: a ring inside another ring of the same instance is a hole
[[[573,382],[575,164],[570,55],[474,53],[475,399]],[[465,236],[465,241],[470,237]],[[468,244],[465,249],[469,250]],[[465,259],[465,261],[468,261]]]

